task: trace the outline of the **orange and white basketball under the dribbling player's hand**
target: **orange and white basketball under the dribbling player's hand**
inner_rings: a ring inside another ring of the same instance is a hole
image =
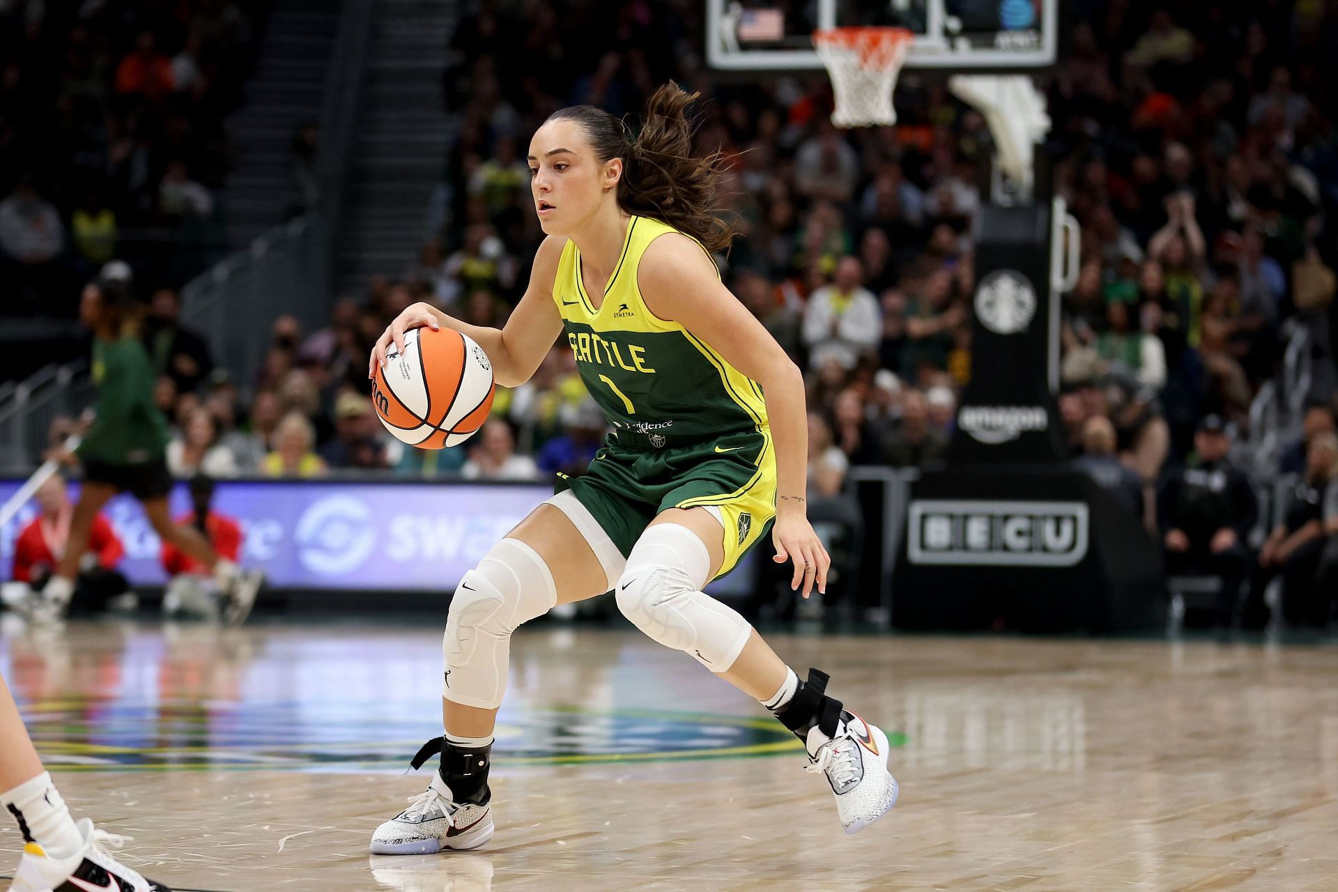
[[[420,449],[458,445],[492,409],[492,364],[483,348],[454,329],[412,329],[404,352],[376,369],[372,405],[397,440]]]

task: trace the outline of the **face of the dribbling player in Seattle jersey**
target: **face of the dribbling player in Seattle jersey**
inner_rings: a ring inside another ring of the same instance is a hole
[[[530,140],[529,163],[539,226],[550,235],[581,229],[605,193],[617,186],[617,177],[611,182],[609,177],[610,166],[618,162],[599,163],[585,130],[574,120],[550,120],[539,127]]]

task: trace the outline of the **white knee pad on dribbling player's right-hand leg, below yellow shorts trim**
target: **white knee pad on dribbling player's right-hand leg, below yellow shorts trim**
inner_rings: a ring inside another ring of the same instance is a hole
[[[661,645],[723,673],[748,643],[752,626],[701,591],[708,574],[710,554],[697,534],[677,523],[648,527],[618,580],[618,610]]]

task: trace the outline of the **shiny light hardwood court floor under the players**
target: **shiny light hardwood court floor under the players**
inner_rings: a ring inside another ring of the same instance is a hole
[[[772,637],[892,737],[847,837],[797,742],[634,631],[518,635],[478,853],[369,857],[440,623],[5,626],[71,806],[177,889],[1338,889],[1338,647]],[[0,821],[0,873],[19,840]]]

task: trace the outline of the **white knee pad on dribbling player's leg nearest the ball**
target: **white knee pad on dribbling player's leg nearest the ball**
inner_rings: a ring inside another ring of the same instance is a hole
[[[460,580],[446,619],[442,695],[452,703],[496,709],[506,693],[511,633],[558,603],[553,572],[519,539],[503,539]]]

